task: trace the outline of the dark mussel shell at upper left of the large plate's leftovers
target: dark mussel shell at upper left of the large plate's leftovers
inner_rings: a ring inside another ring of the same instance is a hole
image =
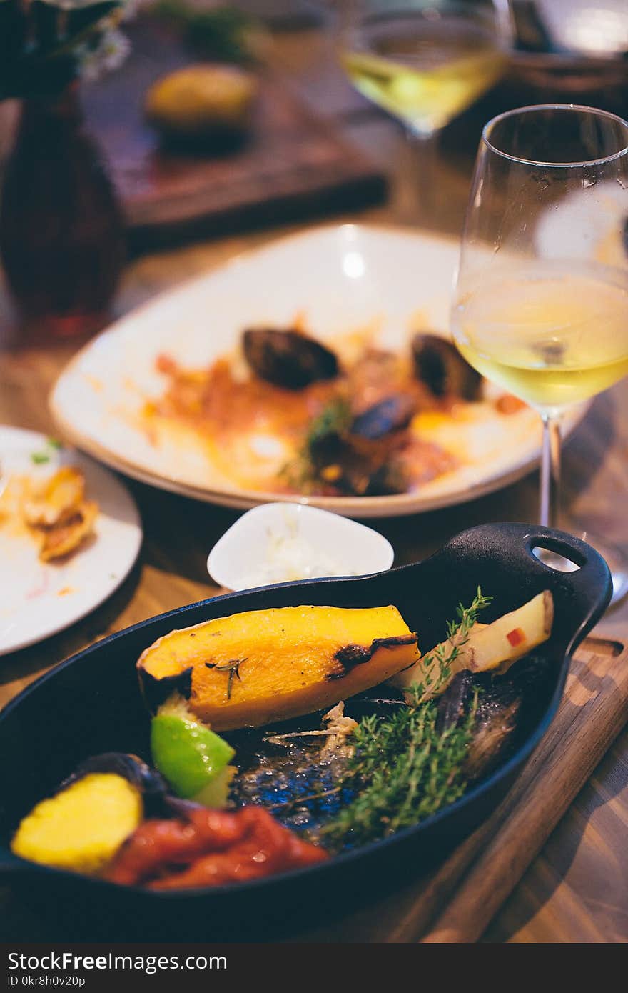
[[[303,389],[338,373],[333,352],[298,331],[251,328],[244,332],[242,346],[253,372],[275,386]]]

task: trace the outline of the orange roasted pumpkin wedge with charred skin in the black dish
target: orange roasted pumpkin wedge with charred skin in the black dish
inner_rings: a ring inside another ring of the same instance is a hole
[[[396,607],[282,607],[173,631],[138,661],[155,710],[174,690],[216,731],[329,707],[412,665],[417,636]]]

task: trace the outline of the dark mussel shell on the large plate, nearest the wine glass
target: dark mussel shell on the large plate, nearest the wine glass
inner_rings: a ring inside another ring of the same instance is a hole
[[[482,377],[455,347],[438,335],[419,334],[412,340],[415,374],[435,396],[479,397]]]

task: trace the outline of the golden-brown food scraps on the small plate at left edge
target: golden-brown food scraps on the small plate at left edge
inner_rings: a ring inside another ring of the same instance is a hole
[[[48,442],[50,448],[56,443]],[[50,461],[47,451],[33,453],[35,466]],[[0,527],[27,534],[42,562],[65,559],[93,533],[98,504],[85,493],[85,478],[75,466],[35,477],[15,473],[0,478]]]

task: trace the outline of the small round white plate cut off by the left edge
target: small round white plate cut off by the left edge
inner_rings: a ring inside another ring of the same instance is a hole
[[[46,465],[31,456],[43,450]],[[0,426],[3,486],[11,475],[44,478],[63,463],[78,466],[87,496],[100,513],[94,537],[67,561],[40,562],[35,542],[0,526],[0,655],[48,638],[94,610],[127,576],[142,544],[142,525],[133,498],[106,469],[79,452],[57,452],[34,431]]]

